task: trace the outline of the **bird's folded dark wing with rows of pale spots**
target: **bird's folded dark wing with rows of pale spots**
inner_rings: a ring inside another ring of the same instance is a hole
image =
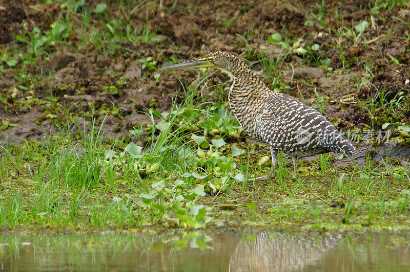
[[[286,96],[265,105],[256,120],[256,131],[263,141],[277,149],[298,152],[325,147],[353,152],[344,135],[314,108]]]

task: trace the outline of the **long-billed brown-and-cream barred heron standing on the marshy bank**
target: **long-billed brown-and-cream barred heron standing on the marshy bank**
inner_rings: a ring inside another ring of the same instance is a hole
[[[160,71],[213,67],[231,77],[228,104],[251,138],[270,146],[272,168],[255,180],[273,179],[278,152],[290,156],[297,176],[297,159],[327,152],[350,155],[352,143],[319,111],[299,100],[275,92],[263,83],[240,57],[222,51],[173,64]]]

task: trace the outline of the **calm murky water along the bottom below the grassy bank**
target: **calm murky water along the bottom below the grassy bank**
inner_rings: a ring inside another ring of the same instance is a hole
[[[410,271],[410,234],[0,236],[0,270]]]

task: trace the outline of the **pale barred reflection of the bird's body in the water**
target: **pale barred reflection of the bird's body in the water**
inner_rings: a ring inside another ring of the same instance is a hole
[[[342,238],[340,234],[301,236],[262,232],[249,243],[242,240],[231,257],[230,271],[294,271],[323,258]]]

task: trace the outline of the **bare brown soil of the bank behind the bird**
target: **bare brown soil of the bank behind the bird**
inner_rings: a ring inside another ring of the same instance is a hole
[[[87,1],[85,7],[93,9],[98,3],[99,1]],[[369,117],[359,103],[340,103],[344,95],[355,94],[355,99],[368,99],[376,95],[376,88],[385,87],[390,92],[388,98],[404,91],[405,97],[409,99],[410,83],[405,82],[410,77],[410,30],[405,24],[392,18],[396,16],[409,21],[408,7],[381,9],[378,16],[373,16],[374,26],[370,23],[368,27],[371,30],[366,32],[367,43],[352,46],[347,42],[348,37],[344,35],[339,40],[336,32],[329,31],[317,22],[312,26],[304,25],[306,20],[317,21],[313,16],[318,13],[317,3],[203,1],[192,4],[191,1],[160,1],[160,4],[142,6],[130,16],[135,28],[144,28],[148,20],[150,31],[162,40],[136,44],[124,42],[121,44],[124,50],[118,50],[114,54],[97,50],[93,44],[77,50],[78,38],[73,32],[63,44],[50,49],[49,57],[42,55],[35,65],[24,66],[25,71],[37,79],[29,90],[21,91],[16,88],[21,84],[18,81],[20,70],[0,72],[0,91],[5,98],[0,108],[0,119],[19,124],[2,131],[0,141],[39,140],[45,133],[56,133],[62,124],[81,117],[83,112],[89,112],[91,104],[96,110],[96,117],[105,116],[99,112],[104,106],[119,107],[117,114],[109,114],[106,119],[106,137],[130,136],[129,129],[134,125],[150,123],[148,116],[144,114],[148,112],[148,108],[169,110],[173,100],[179,103],[183,99],[183,92],[176,94],[176,90],[198,78],[197,72],[188,71],[178,73],[182,85],[175,76],[169,74],[155,80],[156,72],[142,69],[142,59],[152,57],[157,61],[157,66],[162,66],[165,62],[170,62],[170,57],[185,61],[203,53],[223,50],[240,55],[245,61],[252,63],[262,55],[268,58],[277,56],[277,44],[267,42],[269,35],[276,32],[282,37],[288,36],[291,46],[300,37],[304,47],[317,43],[319,50],[310,56],[316,59],[330,58],[329,66],[333,67],[334,73],[298,55],[286,57],[278,69],[281,82],[291,87],[283,89],[285,94],[300,97],[306,103],[316,99],[315,89],[317,94],[330,97],[323,113],[331,121],[338,120],[339,128],[361,128],[370,124]],[[370,22],[369,6],[372,3],[365,0],[327,3],[329,5],[324,10],[327,14],[323,19],[324,25],[338,30],[342,28],[341,21],[346,27],[354,26],[362,20]],[[114,17],[127,17],[134,7],[116,8],[113,4],[108,5],[107,12]],[[338,20],[335,19],[336,9]],[[60,14],[65,15],[66,12],[57,3],[16,1],[0,4],[0,48],[14,46],[25,52],[26,44],[18,42],[15,34],[19,31],[28,33],[34,27],[47,30]],[[92,14],[92,21],[98,19],[97,15]],[[74,28],[81,24],[78,16],[74,15],[72,22]],[[248,37],[248,44],[237,34]],[[335,47],[338,42],[342,44],[340,48]],[[247,50],[252,52],[248,57]],[[130,54],[130,51],[133,53]],[[346,70],[342,69],[341,54],[344,55]],[[395,64],[392,57],[399,60],[400,65]],[[19,62],[20,57],[15,56],[15,60]],[[374,77],[370,83],[358,88],[358,80],[368,75],[365,65],[369,63]],[[7,67],[2,61],[0,65]],[[256,63],[253,69],[259,71],[262,66]],[[290,81],[292,74],[293,80]],[[270,79],[264,75],[265,71],[262,76],[271,85]],[[101,86],[115,85],[121,76],[128,83],[118,86],[120,94],[101,92]],[[223,83],[227,79],[222,74],[213,76],[214,83]],[[29,103],[30,107],[22,106],[30,98],[47,101],[50,96],[55,97],[58,110],[53,110],[56,106],[47,102],[37,103],[38,105],[35,102]],[[199,101],[199,97],[197,99]],[[50,119],[47,117],[48,113],[57,118]],[[399,121],[407,122],[409,117],[407,110]]]

